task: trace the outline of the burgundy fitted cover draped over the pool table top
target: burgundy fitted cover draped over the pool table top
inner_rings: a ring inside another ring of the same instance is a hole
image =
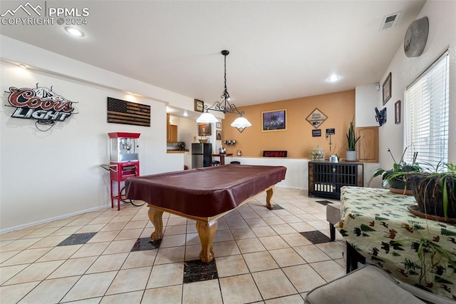
[[[127,198],[188,216],[212,217],[285,178],[284,166],[225,165],[128,178]]]

